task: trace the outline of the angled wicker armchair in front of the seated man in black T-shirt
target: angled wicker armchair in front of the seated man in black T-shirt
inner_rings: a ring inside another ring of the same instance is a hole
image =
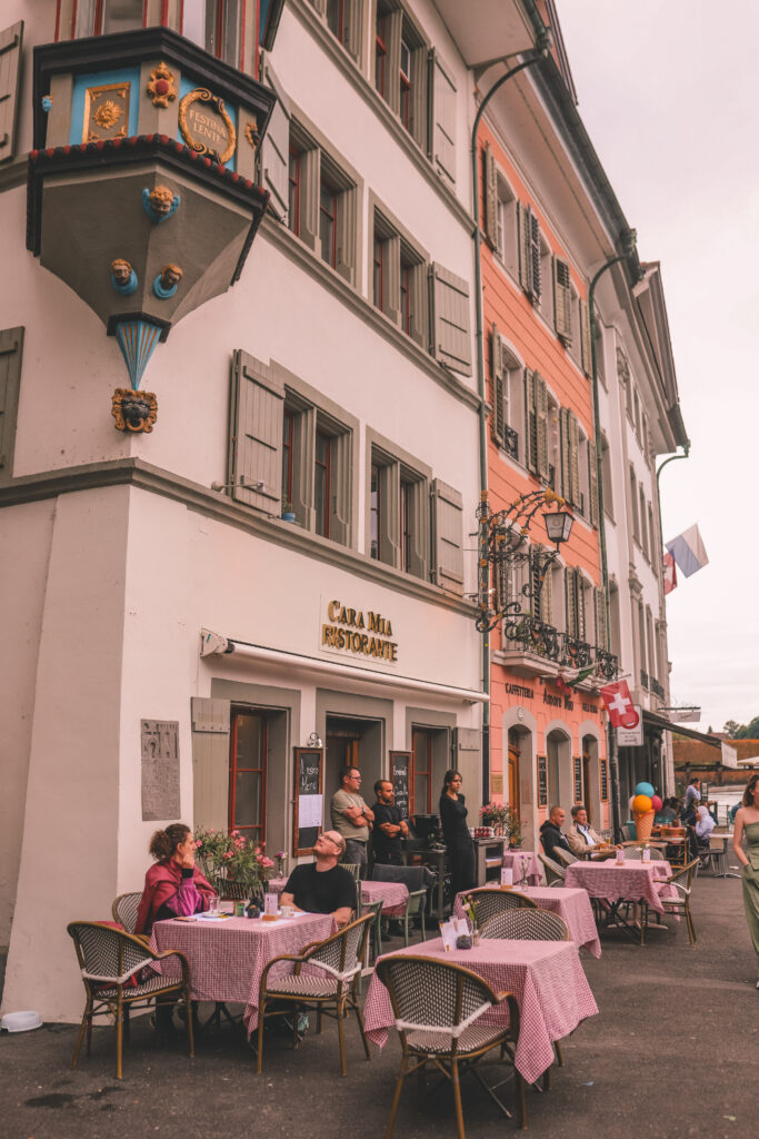
[[[361,1029],[366,1059],[371,1059],[364,1032],[364,1018],[358,1005],[358,981],[366,952],[369,928],[374,920],[373,913],[365,913],[325,941],[306,945],[297,957],[286,953],[281,957],[274,957],[266,965],[261,976],[258,990],[258,1058],[256,1065],[258,1074],[261,1074],[264,1058],[264,1022],[267,1016],[281,1016],[282,1006],[287,1007],[287,1003],[295,1006],[292,1009],[294,1024],[298,1022],[298,1006],[313,1005],[316,1008],[317,1032],[322,1031],[323,1014],[336,1018],[343,1075],[348,1074],[343,1022],[353,1009]],[[272,966],[279,961],[292,961],[294,973],[270,977]],[[303,973],[304,965],[316,965],[327,976]],[[267,1003],[274,1006],[269,1013],[266,1011]],[[297,1043],[297,1033],[294,1035],[294,1043]]]

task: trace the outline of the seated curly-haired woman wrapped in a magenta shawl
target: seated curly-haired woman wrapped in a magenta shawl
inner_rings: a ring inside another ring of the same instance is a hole
[[[216,891],[195,865],[192,831],[183,822],[156,830],[148,847],[156,865],[145,876],[134,932],[150,933],[154,921],[200,913]]]

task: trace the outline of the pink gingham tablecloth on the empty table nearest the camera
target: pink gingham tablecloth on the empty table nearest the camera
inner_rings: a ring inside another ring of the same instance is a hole
[[[477,949],[446,953],[443,939],[411,945],[399,953],[440,958],[479,974],[495,992],[511,992],[520,1011],[515,1064],[528,1083],[553,1063],[554,1040],[574,1032],[599,1009],[583,973],[577,947],[568,941],[484,941]],[[397,956],[395,953],[387,956]],[[432,1010],[434,1015],[434,1010]],[[374,973],[364,1007],[366,1034],[383,1048],[395,1023],[390,997]],[[508,1024],[505,1005],[482,1016],[482,1024]]]

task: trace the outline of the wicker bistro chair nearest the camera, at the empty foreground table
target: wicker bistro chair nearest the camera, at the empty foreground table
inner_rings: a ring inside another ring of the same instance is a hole
[[[476,973],[460,965],[405,953],[383,957],[377,975],[390,994],[395,1027],[401,1038],[401,1072],[395,1087],[390,1117],[385,1132],[390,1139],[409,1075],[423,1075],[434,1065],[453,1084],[459,1139],[464,1139],[461,1076],[467,1072],[479,1081],[504,1115],[511,1113],[496,1096],[476,1065],[498,1049],[497,1063],[513,1064],[519,1039],[519,1006],[512,993],[495,993]],[[494,1005],[508,1002],[509,1026],[481,1025],[479,1017]],[[517,1109],[520,1126],[527,1126],[525,1083],[514,1067]],[[497,1084],[496,1087],[500,1087]]]

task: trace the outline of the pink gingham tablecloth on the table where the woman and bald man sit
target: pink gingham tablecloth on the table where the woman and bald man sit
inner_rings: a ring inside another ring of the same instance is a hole
[[[180,949],[190,965],[193,1000],[245,1005],[248,1035],[258,1023],[258,985],[264,967],[280,953],[298,953],[335,933],[330,913],[299,913],[278,921],[226,918],[223,921],[156,921],[150,948]],[[167,962],[164,968],[171,976]],[[289,962],[277,967],[290,972]],[[179,970],[178,970],[179,972]]]

